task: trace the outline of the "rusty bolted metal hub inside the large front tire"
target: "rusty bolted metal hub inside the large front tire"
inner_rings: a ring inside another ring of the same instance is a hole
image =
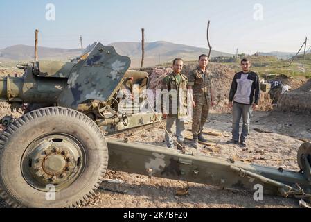
[[[70,137],[49,136],[28,146],[22,163],[24,178],[37,189],[55,185],[60,190],[78,178],[82,153]]]

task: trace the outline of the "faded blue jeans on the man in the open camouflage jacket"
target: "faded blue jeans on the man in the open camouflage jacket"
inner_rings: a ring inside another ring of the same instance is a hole
[[[177,142],[184,142],[184,135],[183,132],[185,130],[184,121],[180,121],[180,119],[177,119],[177,117],[168,117],[166,119],[166,130],[170,135],[172,135],[172,125],[176,121],[176,136],[177,136]],[[166,146],[172,147],[174,141],[172,138],[166,133]]]

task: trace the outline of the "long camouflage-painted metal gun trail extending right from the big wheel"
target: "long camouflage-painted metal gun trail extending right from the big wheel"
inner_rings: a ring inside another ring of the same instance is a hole
[[[311,197],[311,182],[302,172],[258,164],[246,164],[206,155],[182,154],[167,148],[107,138],[108,168],[149,177],[168,178],[215,185],[222,188],[254,190],[263,185],[265,194]],[[301,146],[311,145],[306,143]],[[310,163],[308,165],[310,169]]]

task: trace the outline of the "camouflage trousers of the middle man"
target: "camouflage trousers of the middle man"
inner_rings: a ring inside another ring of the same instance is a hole
[[[193,108],[193,135],[198,135],[202,132],[208,117],[209,105],[209,103],[198,103],[195,108]]]

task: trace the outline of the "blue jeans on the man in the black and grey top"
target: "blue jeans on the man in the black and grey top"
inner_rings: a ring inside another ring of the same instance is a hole
[[[232,126],[232,137],[233,140],[239,141],[239,128],[240,119],[243,119],[242,133],[240,139],[245,141],[249,135],[249,122],[251,121],[251,114],[253,109],[251,105],[242,105],[239,103],[233,103],[233,126]]]

